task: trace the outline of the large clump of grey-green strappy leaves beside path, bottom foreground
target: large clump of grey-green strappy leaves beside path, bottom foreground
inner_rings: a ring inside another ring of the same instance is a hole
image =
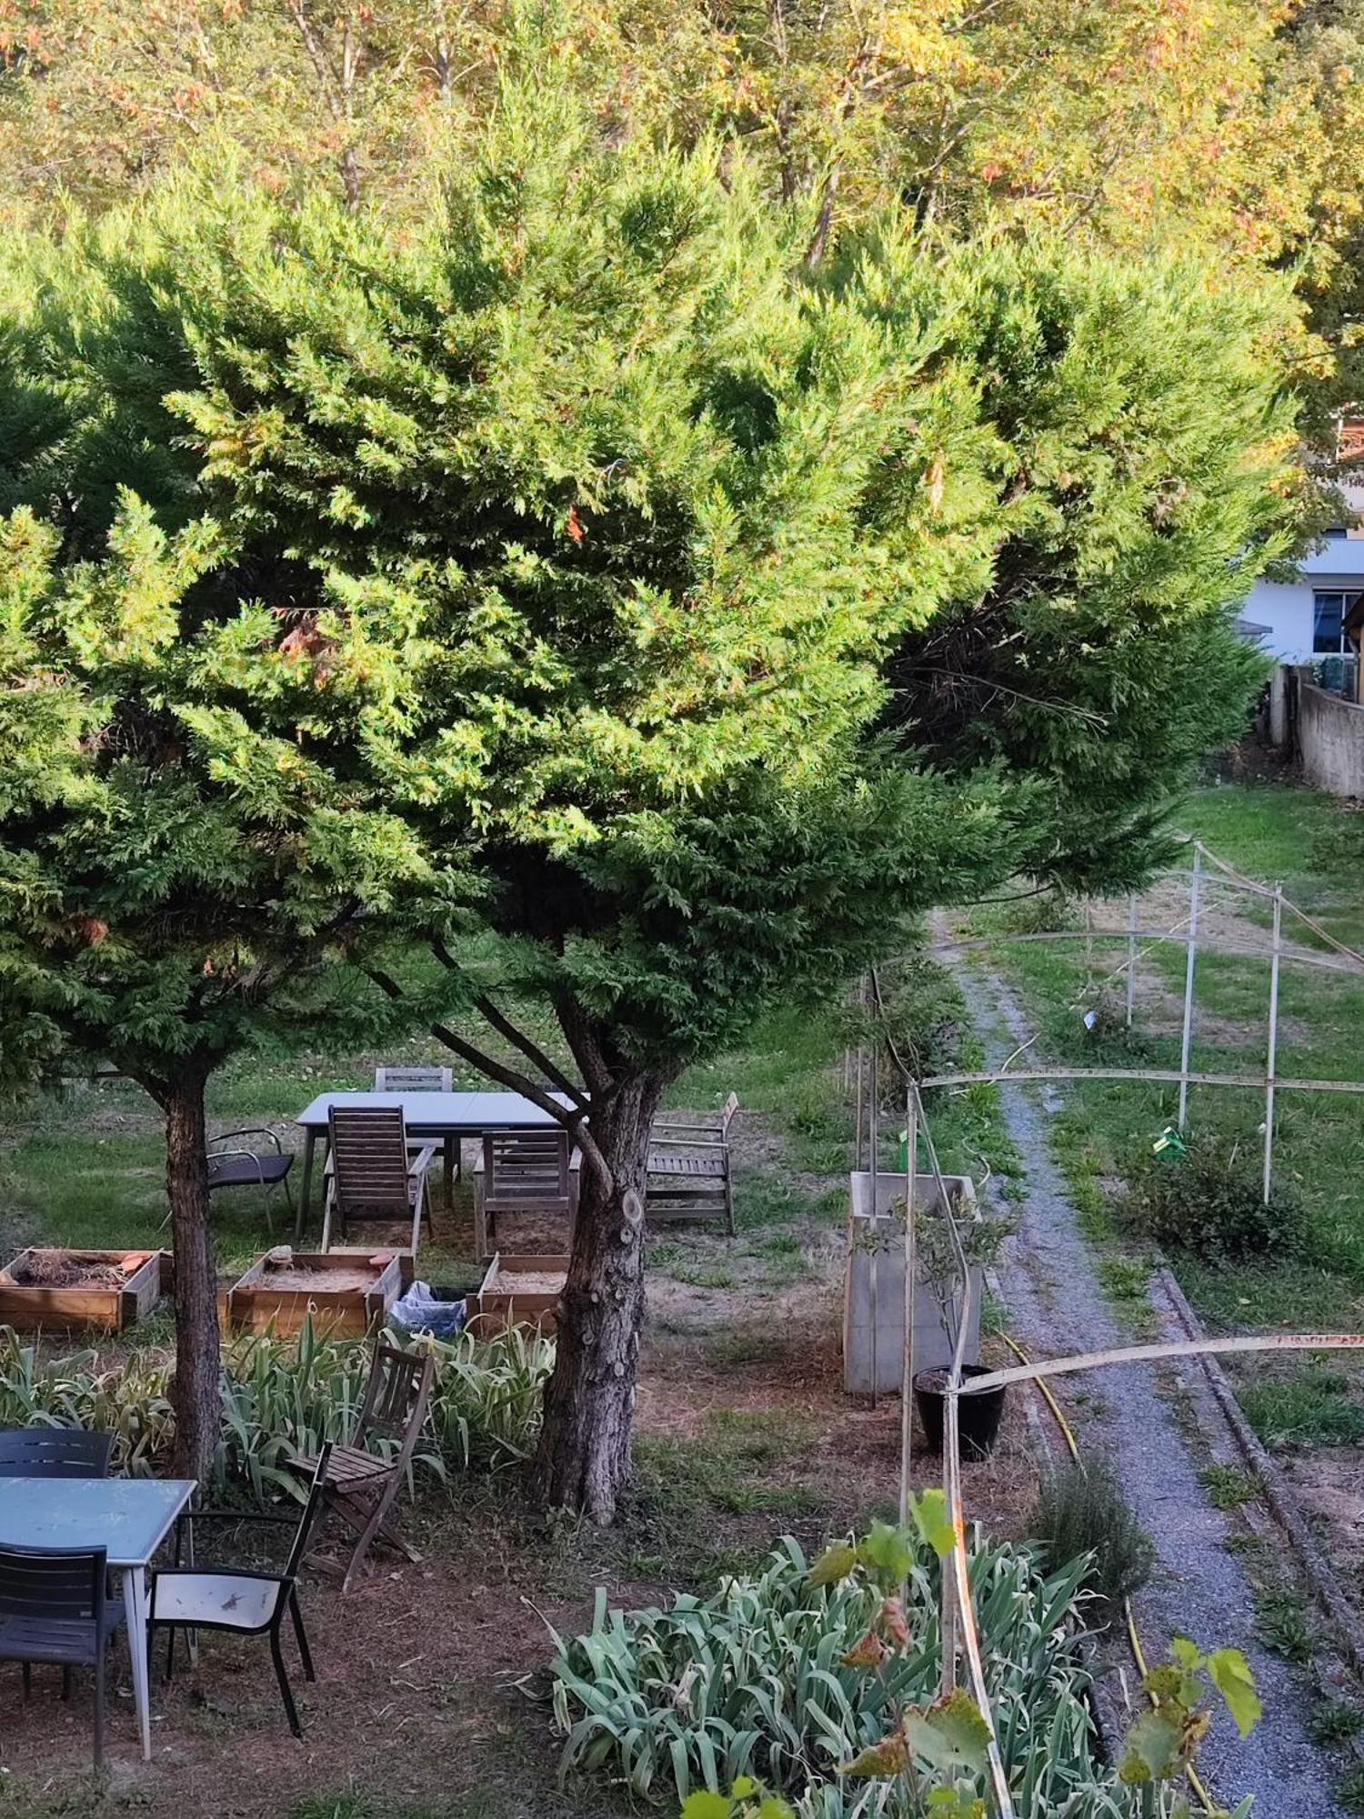
[[[671,1783],[682,1799],[755,1775],[802,1819],[900,1814],[895,1783],[837,1770],[877,1748],[904,1708],[933,1704],[937,1564],[918,1543],[898,1643],[898,1613],[888,1626],[886,1593],[847,1572],[855,1557],[849,1541],[811,1570],[786,1539],[758,1577],[727,1579],[709,1599],[624,1613],[598,1593],[591,1632],[560,1643],[553,1664],[564,1770],[617,1774],[640,1795]],[[888,1555],[884,1572],[900,1564]],[[1000,1750],[1028,1815],[1124,1812],[1091,1754],[1084,1672],[1064,1639],[1080,1572],[1042,1577],[1008,1546],[971,1559]],[[873,1641],[882,1652],[868,1672]]]

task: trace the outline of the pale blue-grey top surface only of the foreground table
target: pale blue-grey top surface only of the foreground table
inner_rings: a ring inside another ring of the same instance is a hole
[[[104,1548],[111,1566],[147,1566],[196,1488],[193,1479],[0,1477],[0,1543]]]

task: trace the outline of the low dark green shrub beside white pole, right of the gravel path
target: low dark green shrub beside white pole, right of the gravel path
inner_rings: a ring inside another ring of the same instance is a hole
[[[1178,1161],[1146,1157],[1126,1208],[1144,1237],[1211,1261],[1291,1253],[1306,1224],[1291,1188],[1275,1186],[1266,1204],[1259,1161],[1209,1135],[1193,1137]]]

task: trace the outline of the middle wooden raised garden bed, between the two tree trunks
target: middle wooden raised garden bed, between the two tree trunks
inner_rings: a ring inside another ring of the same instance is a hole
[[[224,1328],[287,1335],[304,1321],[329,1333],[382,1326],[402,1293],[398,1251],[266,1251],[218,1297]]]

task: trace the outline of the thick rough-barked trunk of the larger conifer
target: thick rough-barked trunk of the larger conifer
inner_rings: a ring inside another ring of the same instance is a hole
[[[629,1477],[635,1373],[644,1321],[644,1181],[657,1075],[618,1079],[593,1099],[591,1133],[611,1170],[584,1159],[578,1222],[546,1388],[538,1488],[551,1506],[609,1523]]]

